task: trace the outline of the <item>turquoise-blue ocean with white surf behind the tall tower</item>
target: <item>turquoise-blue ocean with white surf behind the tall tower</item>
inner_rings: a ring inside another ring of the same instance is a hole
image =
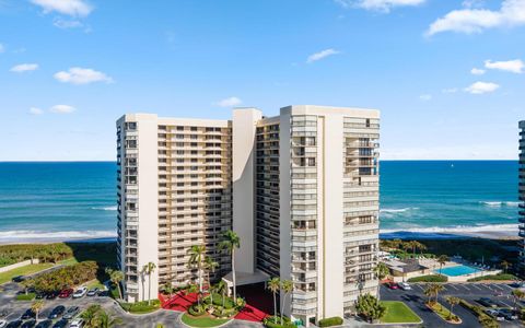
[[[116,235],[113,162],[0,163],[0,243]],[[517,161],[382,161],[381,232],[517,234]]]

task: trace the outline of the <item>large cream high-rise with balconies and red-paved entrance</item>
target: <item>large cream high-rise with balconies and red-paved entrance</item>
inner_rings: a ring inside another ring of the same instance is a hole
[[[343,316],[376,293],[380,113],[289,106],[276,117],[234,109],[231,121],[126,115],[117,121],[119,259],[127,298],[195,279],[187,249],[241,237],[237,285],[291,280],[285,314],[304,323]],[[230,277],[226,274],[226,281]],[[230,282],[231,284],[231,282]],[[284,297],[282,297],[284,298]]]

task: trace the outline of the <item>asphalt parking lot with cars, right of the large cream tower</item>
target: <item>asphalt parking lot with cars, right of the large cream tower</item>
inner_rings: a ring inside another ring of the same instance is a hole
[[[417,315],[419,315],[425,327],[479,327],[477,317],[460,305],[454,307],[454,313],[463,320],[460,325],[451,325],[442,320],[436,314],[429,309],[424,302],[424,283],[411,283],[410,291],[390,290],[386,286],[381,288],[381,297],[384,301],[402,301]],[[440,293],[439,301],[444,306],[448,306],[446,296],[457,296],[470,304],[480,305],[476,301],[480,297],[488,297],[500,303],[503,307],[513,307],[514,301],[511,296],[512,288],[504,283],[443,283],[444,290]],[[501,327],[522,327],[518,320],[500,321]]]

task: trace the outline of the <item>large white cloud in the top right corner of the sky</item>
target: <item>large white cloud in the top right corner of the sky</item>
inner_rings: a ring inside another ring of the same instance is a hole
[[[454,10],[433,22],[427,35],[441,32],[481,33],[487,28],[525,24],[525,0],[503,0],[498,11],[487,9]]]

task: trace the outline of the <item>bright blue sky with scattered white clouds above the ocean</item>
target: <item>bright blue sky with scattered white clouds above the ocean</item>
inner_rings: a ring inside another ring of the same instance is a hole
[[[383,159],[516,159],[525,119],[525,0],[0,0],[0,161],[291,104],[381,109]]]

